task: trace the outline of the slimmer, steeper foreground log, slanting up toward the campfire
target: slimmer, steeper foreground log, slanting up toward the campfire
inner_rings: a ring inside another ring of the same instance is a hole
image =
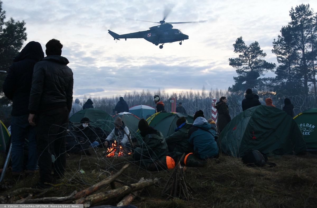
[[[108,178],[100,181],[99,183],[94,184],[93,186],[90,186],[89,188],[86,188],[80,192],[78,192],[75,195],[75,199],[79,199],[85,196],[88,196],[98,190],[100,190],[101,188],[103,188],[104,186],[106,186],[109,183],[112,183],[119,175],[121,175],[123,173],[123,171],[129,166],[129,164],[124,165],[117,173],[112,174],[110,176],[108,176]]]

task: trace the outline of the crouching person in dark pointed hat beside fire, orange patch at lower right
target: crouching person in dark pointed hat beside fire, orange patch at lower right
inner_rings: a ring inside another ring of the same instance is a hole
[[[174,168],[175,161],[167,156],[168,147],[162,133],[149,126],[144,118],[140,119],[138,127],[143,143],[136,145],[133,159],[147,170]]]

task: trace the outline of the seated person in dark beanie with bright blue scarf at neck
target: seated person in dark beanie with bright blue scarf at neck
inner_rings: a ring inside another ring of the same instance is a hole
[[[188,131],[193,124],[187,123],[185,117],[179,117],[176,125],[175,133],[165,138],[168,151],[188,154],[193,151],[188,143]]]

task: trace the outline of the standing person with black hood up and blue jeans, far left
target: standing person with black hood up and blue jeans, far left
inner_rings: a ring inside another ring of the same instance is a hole
[[[18,176],[23,171],[23,149],[25,138],[29,141],[26,174],[34,173],[37,166],[36,129],[28,121],[29,97],[33,68],[36,62],[44,58],[40,43],[31,41],[14,58],[3,83],[3,92],[12,100],[11,143],[12,175]]]

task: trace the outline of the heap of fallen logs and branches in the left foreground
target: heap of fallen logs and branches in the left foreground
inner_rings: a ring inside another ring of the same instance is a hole
[[[124,197],[118,204],[117,206],[122,206],[122,205],[129,205],[133,199],[145,188],[148,186],[153,186],[158,183],[158,179],[150,179],[150,180],[144,180],[141,178],[138,183],[134,184],[128,184],[124,181],[118,180],[118,176],[123,173],[123,171],[128,167],[129,165],[126,164],[124,165],[120,171],[117,173],[111,174],[100,181],[97,184],[94,184],[93,186],[90,186],[89,188],[86,188],[80,192],[74,191],[72,194],[66,197],[46,197],[46,198],[36,198],[32,199],[33,197],[27,197],[24,199],[20,199],[17,201],[14,201],[14,204],[49,204],[49,203],[59,203],[59,204],[84,204],[84,207],[90,207],[93,206],[97,203],[108,201],[109,199],[114,199],[114,198],[119,198],[119,197]],[[108,173],[107,171],[104,171]],[[123,184],[125,186],[121,186],[119,188],[116,188],[115,182]],[[108,190],[105,192],[99,192],[100,189],[104,188],[110,184],[112,190]],[[30,189],[30,188],[28,188]],[[37,190],[37,189],[34,189]],[[25,191],[25,190],[23,190]],[[32,189],[28,190],[29,192],[32,192]],[[11,195],[11,196],[9,196]],[[12,197],[12,194],[8,194],[8,197]]]

